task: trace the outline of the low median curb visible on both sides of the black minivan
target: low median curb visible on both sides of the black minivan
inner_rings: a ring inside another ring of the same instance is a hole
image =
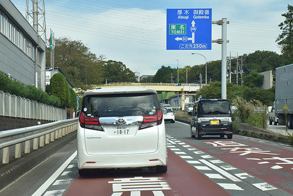
[[[186,123],[190,125],[190,121],[184,118],[175,117],[175,120],[178,122],[182,122],[182,123]],[[252,127],[245,123],[239,123],[239,125],[241,125],[240,128],[237,131],[233,131],[233,134],[254,137],[259,139],[266,139],[266,140],[275,141],[275,142],[287,143],[285,135],[275,133],[269,130],[263,130],[257,127]]]

